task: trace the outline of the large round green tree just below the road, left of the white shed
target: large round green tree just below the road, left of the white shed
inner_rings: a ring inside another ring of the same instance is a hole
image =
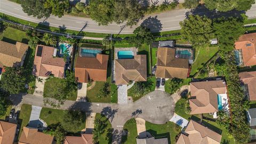
[[[188,19],[180,22],[181,36],[187,39],[194,46],[205,45],[210,43],[213,38],[212,21],[209,18],[200,17],[199,15],[189,15]]]

